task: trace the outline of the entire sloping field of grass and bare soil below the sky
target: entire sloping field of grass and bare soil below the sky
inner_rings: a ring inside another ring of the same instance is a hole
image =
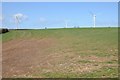
[[[118,77],[118,28],[11,30],[2,34],[3,77]]]

